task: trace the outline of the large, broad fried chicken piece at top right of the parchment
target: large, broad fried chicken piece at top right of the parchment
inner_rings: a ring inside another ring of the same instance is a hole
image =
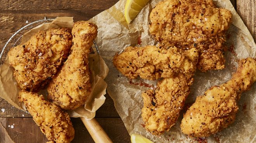
[[[203,72],[225,68],[223,43],[232,13],[212,0],[164,0],[150,13],[150,33],[163,47],[195,47],[197,68]]]

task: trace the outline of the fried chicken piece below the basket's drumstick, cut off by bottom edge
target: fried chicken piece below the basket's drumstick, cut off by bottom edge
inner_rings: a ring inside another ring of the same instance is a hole
[[[49,141],[70,143],[74,138],[74,128],[69,115],[53,103],[46,101],[43,95],[20,91],[19,101],[24,102],[33,120]]]

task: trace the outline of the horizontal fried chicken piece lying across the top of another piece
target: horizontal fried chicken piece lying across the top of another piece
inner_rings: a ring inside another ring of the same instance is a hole
[[[161,77],[171,77],[174,73],[182,72],[191,76],[195,65],[191,64],[191,54],[197,54],[197,49],[182,50],[176,47],[169,49],[146,46],[127,47],[121,54],[113,58],[114,66],[130,79],[140,76],[142,79],[155,80]]]

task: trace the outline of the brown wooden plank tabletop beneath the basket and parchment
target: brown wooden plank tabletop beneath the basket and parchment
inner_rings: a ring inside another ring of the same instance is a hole
[[[118,0],[0,0],[0,50],[26,21],[55,17],[74,17],[74,21],[88,20],[110,8]],[[255,0],[231,0],[249,31],[256,39]],[[1,94],[1,93],[0,93]],[[0,143],[45,143],[46,137],[30,114],[14,108],[0,98]],[[97,111],[97,121],[114,143],[128,143],[130,136],[109,95]],[[80,118],[71,118],[76,134],[73,143],[93,143]],[[13,125],[13,128],[12,126]]]

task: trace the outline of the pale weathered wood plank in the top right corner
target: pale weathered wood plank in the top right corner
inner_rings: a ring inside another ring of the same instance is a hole
[[[256,2],[255,0],[237,0],[237,13],[256,41]]]

